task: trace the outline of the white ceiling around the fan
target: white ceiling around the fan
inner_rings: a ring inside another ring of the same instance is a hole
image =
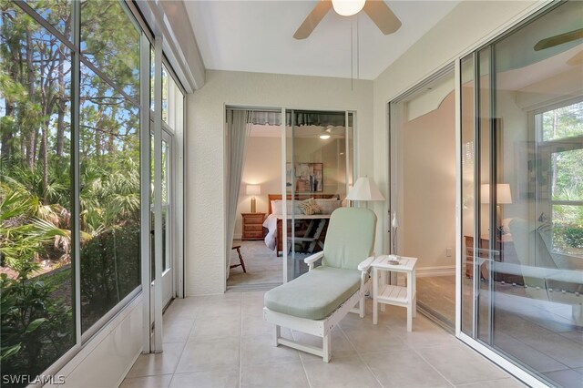
[[[369,0],[371,1],[371,0]],[[459,3],[458,0],[387,1],[403,26],[384,36],[363,12],[332,9],[304,40],[292,36],[317,0],[185,0],[207,69],[374,79]],[[356,71],[358,30],[359,72]]]

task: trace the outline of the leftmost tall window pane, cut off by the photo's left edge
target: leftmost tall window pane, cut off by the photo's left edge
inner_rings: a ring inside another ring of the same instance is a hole
[[[31,3],[32,4],[32,3]],[[67,2],[32,4],[61,32]],[[71,268],[72,52],[0,2],[2,382],[25,386],[76,342]]]

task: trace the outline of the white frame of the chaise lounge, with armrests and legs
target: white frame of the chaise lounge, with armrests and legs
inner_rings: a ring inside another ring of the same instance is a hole
[[[313,264],[317,260],[322,259],[323,251],[314,253],[304,259],[304,262],[308,264],[308,271],[312,271]],[[332,312],[328,317],[322,320],[310,320],[307,318],[300,318],[293,315],[284,314],[277,311],[271,311],[267,307],[263,307],[263,319],[266,322],[274,324],[273,328],[273,346],[285,345],[293,349],[297,349],[302,352],[309,352],[316,356],[322,357],[324,362],[330,362],[332,357],[332,335],[330,332],[341,322],[344,316],[348,312],[355,312],[364,318],[364,299],[366,291],[369,291],[369,269],[371,264],[373,264],[373,256],[363,260],[358,264],[358,270],[361,271],[361,286],[358,291],[354,292],[353,295],[348,298],[348,300],[343,301],[343,303],[338,306],[336,310]],[[358,308],[354,309],[354,306],[358,303]],[[287,338],[281,337],[281,326],[287,327],[297,332],[305,332],[322,338],[322,348],[304,344],[301,342],[295,342]]]

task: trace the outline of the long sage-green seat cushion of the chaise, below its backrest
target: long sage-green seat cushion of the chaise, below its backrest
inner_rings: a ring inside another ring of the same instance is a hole
[[[321,320],[358,291],[361,271],[317,267],[265,293],[265,307],[295,317]]]

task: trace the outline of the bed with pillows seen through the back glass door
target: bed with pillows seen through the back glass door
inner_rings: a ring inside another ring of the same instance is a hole
[[[278,256],[280,256],[283,250],[283,215],[281,209],[283,203],[286,204],[288,213],[288,234],[292,230],[293,217],[296,227],[296,241],[302,243],[304,249],[310,253],[322,248],[330,214],[332,214],[334,209],[341,206],[341,201],[336,194],[296,194],[293,204],[291,194],[286,196],[285,202],[281,200],[281,194],[268,194],[268,199],[269,213],[263,222],[263,227],[268,230],[265,236],[265,245],[271,250],[275,250]],[[321,213],[311,215],[303,214],[299,205],[307,199],[313,199],[319,206],[319,209],[322,210]]]

